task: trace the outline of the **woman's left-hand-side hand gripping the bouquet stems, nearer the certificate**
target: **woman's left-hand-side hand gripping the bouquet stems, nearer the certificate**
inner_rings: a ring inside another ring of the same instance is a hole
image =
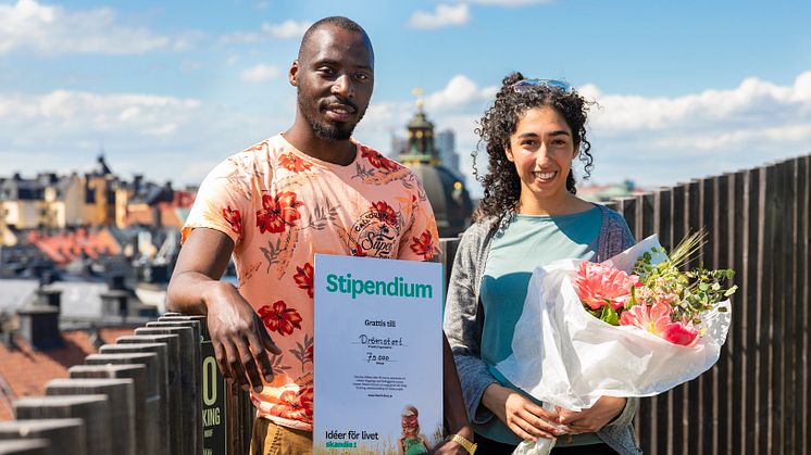
[[[571,432],[567,428],[559,430],[553,424],[559,417],[556,413],[550,413],[514,390],[497,383],[491,383],[485,389],[482,403],[525,441],[554,438],[557,434]]]

